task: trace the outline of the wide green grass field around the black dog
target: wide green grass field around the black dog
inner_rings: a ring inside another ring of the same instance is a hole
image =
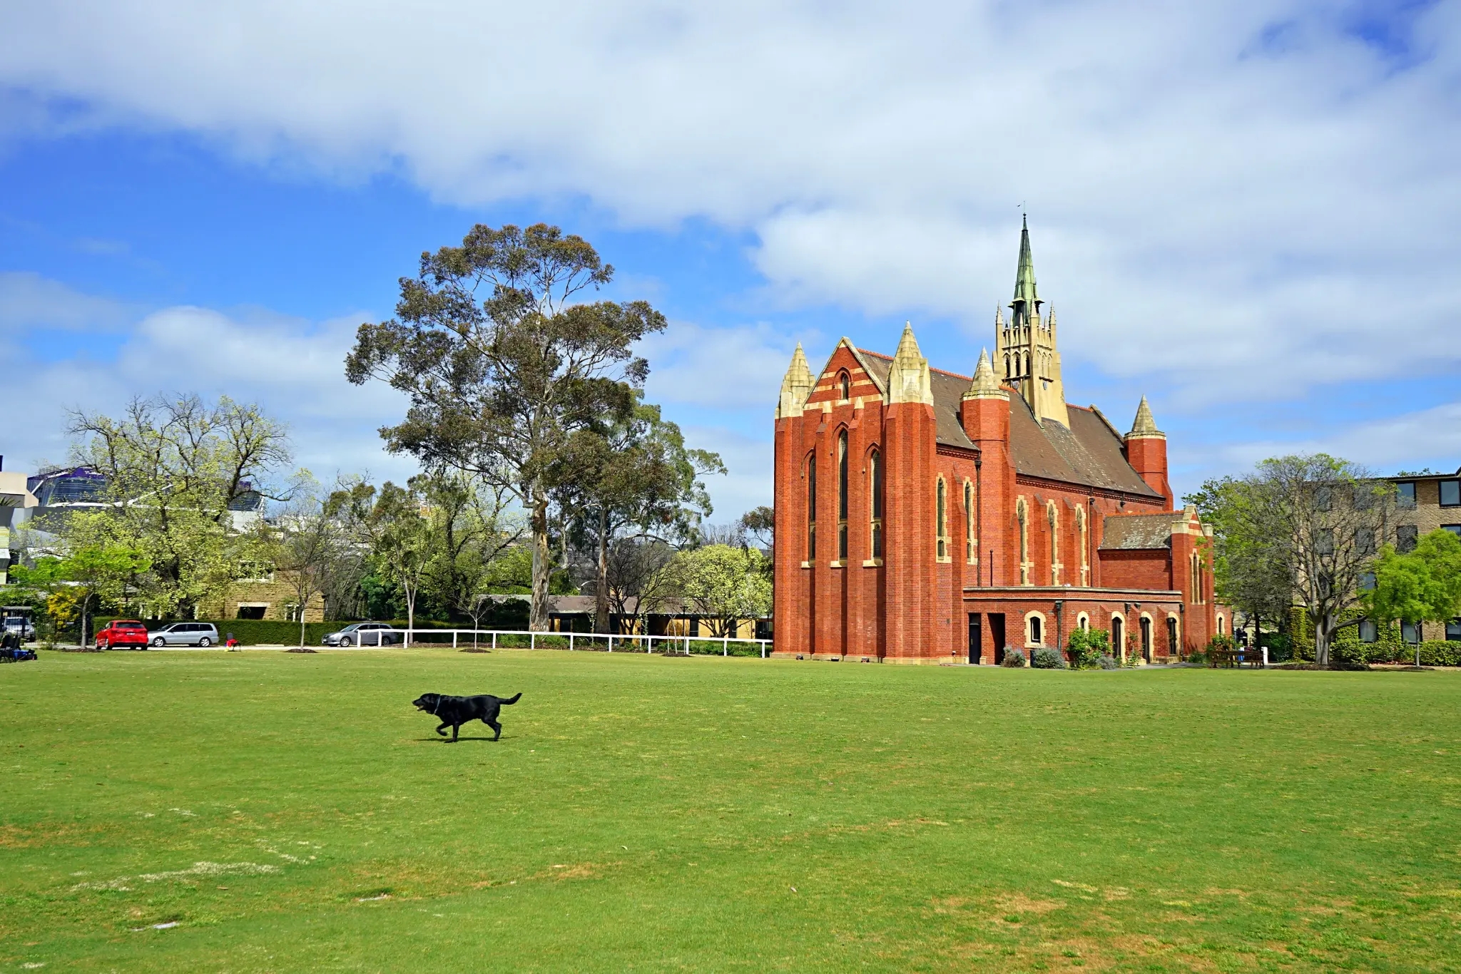
[[[0,732],[0,971],[1461,970],[1457,673],[42,653]]]

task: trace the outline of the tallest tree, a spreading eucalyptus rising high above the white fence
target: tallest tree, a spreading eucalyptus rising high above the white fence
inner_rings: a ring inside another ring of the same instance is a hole
[[[583,301],[614,277],[593,247],[557,226],[478,225],[460,247],[421,256],[400,279],[396,317],[362,324],[345,362],[352,383],[405,393],[387,448],[450,466],[511,494],[529,518],[530,626],[548,628],[551,496],[573,476],[576,431],[630,416],[649,372],[634,345],[663,330],[643,301]]]

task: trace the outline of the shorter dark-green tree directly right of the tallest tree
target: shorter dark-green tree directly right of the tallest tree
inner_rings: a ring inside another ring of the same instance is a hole
[[[579,431],[562,453],[571,467],[557,478],[570,530],[593,551],[595,632],[609,631],[609,551],[625,532],[641,540],[671,542],[693,534],[712,511],[700,478],[725,473],[720,456],[685,447],[679,426],[659,406],[634,410]]]

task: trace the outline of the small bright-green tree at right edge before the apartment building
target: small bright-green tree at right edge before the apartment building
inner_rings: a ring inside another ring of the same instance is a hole
[[[1438,527],[1407,553],[1385,545],[1375,559],[1375,587],[1362,593],[1366,615],[1391,622],[1446,622],[1461,616],[1461,537]],[[1416,643],[1420,666],[1420,643]]]

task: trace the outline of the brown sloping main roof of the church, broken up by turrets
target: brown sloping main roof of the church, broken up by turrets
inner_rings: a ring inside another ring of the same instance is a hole
[[[893,358],[880,352],[858,349],[863,368],[878,383],[888,387]],[[972,378],[939,369],[929,369],[934,387],[935,438],[938,442],[974,450],[958,419],[964,393]],[[1141,496],[1160,498],[1137,473],[1121,450],[1121,437],[1093,409],[1067,406],[1071,428],[1053,419],[1040,422],[1020,393],[1010,390],[1010,453],[1017,473],[1061,483],[1124,491]]]

